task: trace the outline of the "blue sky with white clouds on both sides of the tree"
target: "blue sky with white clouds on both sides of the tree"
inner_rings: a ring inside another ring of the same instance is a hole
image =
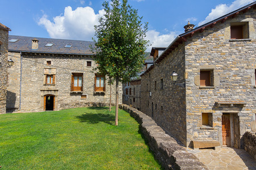
[[[200,25],[255,0],[128,0],[148,22],[152,46],[168,46],[188,20]],[[3,0],[0,23],[10,35],[91,41],[104,14],[101,0]],[[150,50],[150,48],[148,48]]]

